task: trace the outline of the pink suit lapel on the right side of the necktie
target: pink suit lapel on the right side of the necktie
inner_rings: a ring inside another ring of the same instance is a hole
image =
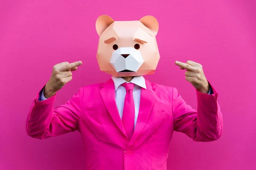
[[[146,87],[141,88],[141,94],[140,94],[140,109],[139,109],[139,114],[138,114],[138,119],[136,122],[134,134],[131,137],[131,140],[129,142],[129,146],[131,146],[135,140],[138,138],[140,135],[141,131],[145,127],[148,117],[151,113],[152,107],[154,105],[155,101],[155,93],[154,93],[154,86],[151,85],[150,82],[146,80]]]

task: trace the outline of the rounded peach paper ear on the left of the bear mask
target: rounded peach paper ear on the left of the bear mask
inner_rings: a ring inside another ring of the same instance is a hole
[[[102,32],[105,31],[105,29],[107,29],[113,22],[114,20],[108,15],[99,16],[96,20],[96,31],[98,35],[100,36]]]

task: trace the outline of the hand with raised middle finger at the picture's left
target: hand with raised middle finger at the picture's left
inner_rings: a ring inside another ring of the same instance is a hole
[[[46,98],[54,96],[67,82],[72,80],[71,71],[77,70],[77,67],[81,64],[81,61],[77,61],[73,63],[61,62],[54,65],[52,76],[44,88],[44,96]]]

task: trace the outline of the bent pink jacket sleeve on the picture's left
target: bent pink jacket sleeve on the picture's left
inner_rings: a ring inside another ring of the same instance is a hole
[[[35,97],[26,120],[26,132],[37,139],[46,139],[78,130],[79,114],[82,108],[83,88],[65,104],[53,108],[56,94],[44,101]]]

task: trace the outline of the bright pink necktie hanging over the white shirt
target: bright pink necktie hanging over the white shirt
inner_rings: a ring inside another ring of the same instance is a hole
[[[135,117],[135,106],[133,99],[133,83],[123,83],[122,86],[125,87],[125,103],[122,115],[122,124],[125,128],[125,132],[129,139],[131,139],[132,134],[134,133],[134,117]]]

